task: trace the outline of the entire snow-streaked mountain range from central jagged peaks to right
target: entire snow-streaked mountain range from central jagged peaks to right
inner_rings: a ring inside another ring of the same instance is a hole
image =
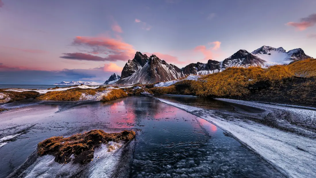
[[[223,61],[208,60],[204,63],[191,63],[183,68],[168,64],[156,55],[148,57],[146,54],[136,52],[132,60],[125,64],[120,79],[113,74],[104,84],[133,85],[136,83],[157,83],[176,80],[186,75],[207,75],[221,72],[228,67],[262,68],[276,64],[289,64],[293,61],[312,58],[301,49],[293,49],[286,52],[283,47],[273,48],[262,46],[253,52],[239,50]],[[114,82],[115,81],[115,82]]]

